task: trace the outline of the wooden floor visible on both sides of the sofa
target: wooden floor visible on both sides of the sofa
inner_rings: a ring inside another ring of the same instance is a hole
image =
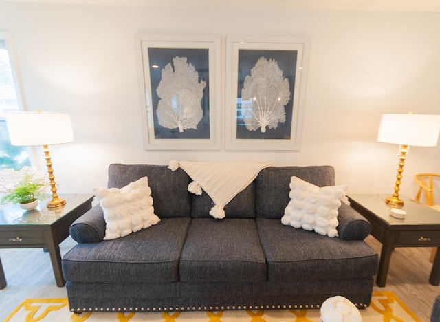
[[[381,244],[369,236],[366,241],[378,253]],[[70,237],[61,243],[62,255],[76,244]],[[388,281],[375,291],[392,291],[415,312],[421,321],[430,321],[430,312],[440,286],[428,283],[432,264],[430,248],[396,248]],[[0,249],[8,286],[0,290],[0,321],[25,298],[67,297],[65,288],[55,284],[49,253],[41,248]]]

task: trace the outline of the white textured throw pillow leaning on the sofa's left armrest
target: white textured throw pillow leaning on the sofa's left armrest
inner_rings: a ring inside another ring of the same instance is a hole
[[[131,182],[122,189],[96,188],[94,192],[104,210],[104,239],[126,236],[160,221],[154,214],[147,177]]]

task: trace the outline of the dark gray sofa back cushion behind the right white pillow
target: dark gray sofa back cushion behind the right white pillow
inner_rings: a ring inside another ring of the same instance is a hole
[[[289,204],[290,181],[296,176],[316,186],[334,186],[335,169],[331,166],[269,167],[256,177],[256,217],[281,219]]]

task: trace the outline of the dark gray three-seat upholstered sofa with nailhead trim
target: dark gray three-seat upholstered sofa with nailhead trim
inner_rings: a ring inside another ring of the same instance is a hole
[[[293,175],[335,184],[330,166],[268,167],[225,206],[224,219],[214,219],[212,200],[188,192],[182,169],[111,164],[109,188],[148,176],[161,220],[104,241],[99,205],[77,219],[70,233],[78,245],[63,257],[70,310],[319,308],[336,295],[365,308],[378,264],[363,240],[369,222],[343,203],[339,237],[283,225]]]

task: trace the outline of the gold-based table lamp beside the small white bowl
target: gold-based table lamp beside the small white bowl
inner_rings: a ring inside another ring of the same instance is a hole
[[[434,147],[440,133],[440,115],[383,114],[377,141],[400,145],[400,162],[394,193],[385,202],[391,206],[404,206],[399,199],[399,186],[410,145]]]

